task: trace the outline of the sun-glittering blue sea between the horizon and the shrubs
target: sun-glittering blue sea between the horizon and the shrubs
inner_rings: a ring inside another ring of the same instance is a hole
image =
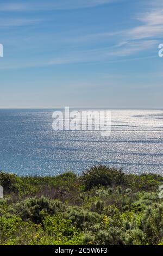
[[[54,110],[0,109],[2,170],[43,176],[106,164],[163,175],[163,110],[113,109],[109,137],[98,131],[53,131]]]

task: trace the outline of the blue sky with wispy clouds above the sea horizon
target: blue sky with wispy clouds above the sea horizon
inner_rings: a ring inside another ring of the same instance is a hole
[[[162,0],[1,0],[0,108],[163,108]]]

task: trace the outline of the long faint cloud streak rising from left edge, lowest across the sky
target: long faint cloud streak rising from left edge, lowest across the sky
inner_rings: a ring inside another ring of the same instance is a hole
[[[10,61],[10,65],[3,63],[0,66],[0,70],[6,69],[23,69],[23,68],[35,68],[41,66],[55,66],[55,65],[67,65],[67,64],[96,64],[99,62],[123,62],[132,61],[128,57],[130,55],[137,54],[138,52],[145,51],[154,47],[158,42],[152,40],[128,42],[122,44],[122,48],[119,47],[108,47],[108,48],[95,48],[93,50],[85,51],[74,51],[69,52],[65,55],[54,57],[52,59],[42,59],[41,57],[36,61],[34,59],[27,59],[22,64]],[[137,56],[137,55],[136,55]],[[116,58],[115,58],[116,57]],[[124,58],[127,57],[127,58]],[[146,56],[134,58],[133,60],[139,60],[141,58],[154,58],[155,56]]]

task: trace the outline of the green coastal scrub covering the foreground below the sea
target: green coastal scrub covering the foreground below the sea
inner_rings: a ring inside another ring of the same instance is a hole
[[[79,176],[0,172],[0,244],[163,245],[162,184],[106,166]]]

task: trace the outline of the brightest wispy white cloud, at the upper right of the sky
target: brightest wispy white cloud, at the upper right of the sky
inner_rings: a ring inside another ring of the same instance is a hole
[[[161,0],[162,1],[162,0]],[[163,3],[159,0],[154,5],[149,2],[149,6],[144,13],[135,17],[136,20],[142,22],[142,25],[135,26],[131,29],[123,29],[121,31],[96,33],[80,36],[76,39],[69,39],[72,42],[89,42],[102,41],[106,38],[117,37],[122,40],[115,47],[121,47],[118,52],[120,56],[128,56],[140,51],[147,51],[150,48],[157,47],[159,41],[156,39],[163,37]],[[160,5],[158,5],[160,3]],[[112,52],[115,55],[115,52]]]

